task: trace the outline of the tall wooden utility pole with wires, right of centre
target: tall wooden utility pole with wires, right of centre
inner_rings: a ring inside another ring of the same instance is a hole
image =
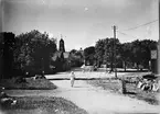
[[[115,65],[115,78],[117,78],[117,66],[116,66],[116,30],[117,30],[117,26],[114,25],[113,26],[114,29],[114,65]]]

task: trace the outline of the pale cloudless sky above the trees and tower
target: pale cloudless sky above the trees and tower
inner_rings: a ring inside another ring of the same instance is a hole
[[[113,25],[117,26],[116,36],[121,43],[159,39],[158,0],[0,1],[0,31],[19,35],[39,30],[57,41],[62,36],[66,50],[113,37]],[[143,25],[148,22],[152,23]],[[139,25],[142,26],[128,30]]]

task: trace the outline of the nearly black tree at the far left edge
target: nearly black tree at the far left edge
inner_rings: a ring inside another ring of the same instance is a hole
[[[15,35],[13,33],[0,33],[0,60],[1,75],[3,78],[11,78],[13,71],[13,52],[15,44]]]

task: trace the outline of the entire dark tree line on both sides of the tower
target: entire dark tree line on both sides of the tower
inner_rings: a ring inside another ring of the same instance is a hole
[[[64,55],[53,57],[57,52],[56,41],[49,38],[46,33],[34,30],[15,36],[13,33],[0,33],[0,76],[11,78],[25,72],[42,73],[61,70],[64,64],[79,67],[84,64],[106,67],[129,68],[149,67],[150,52],[157,48],[157,42],[151,39],[120,43],[118,38],[104,38],[95,46],[83,50],[71,50],[68,59]],[[65,66],[66,66],[65,65]],[[66,69],[66,68],[65,68]]]

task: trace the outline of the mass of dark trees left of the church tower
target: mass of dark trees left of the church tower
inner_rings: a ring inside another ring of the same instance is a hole
[[[57,50],[56,41],[46,33],[34,30],[15,36],[13,33],[0,34],[0,75],[2,78],[30,73],[49,72],[52,56]]]

